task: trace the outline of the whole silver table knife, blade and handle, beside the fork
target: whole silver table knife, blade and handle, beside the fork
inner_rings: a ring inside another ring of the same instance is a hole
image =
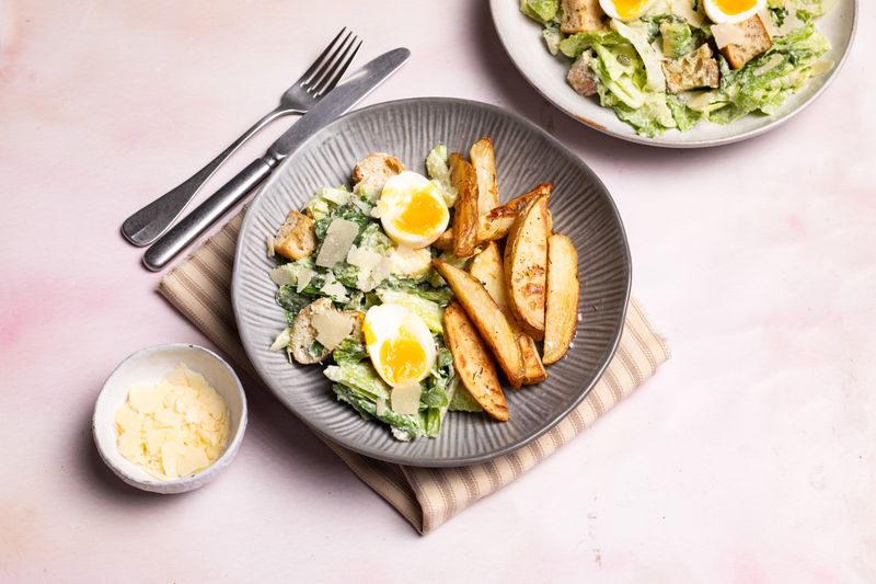
[[[291,154],[320,128],[371,93],[404,65],[410,56],[411,51],[406,48],[384,53],[337,85],[270,145],[265,156],[254,160],[160,237],[143,254],[143,265],[153,272],[168,265],[176,254],[267,179],[283,159]]]

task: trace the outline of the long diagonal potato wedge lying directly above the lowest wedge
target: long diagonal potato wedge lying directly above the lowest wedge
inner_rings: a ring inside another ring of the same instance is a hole
[[[440,259],[433,260],[433,266],[453,290],[511,387],[519,388],[523,382],[523,357],[508,319],[477,278]]]

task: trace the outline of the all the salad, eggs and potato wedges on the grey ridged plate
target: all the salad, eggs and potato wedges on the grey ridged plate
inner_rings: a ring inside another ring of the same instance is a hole
[[[489,137],[469,156],[439,145],[425,176],[369,154],[351,190],[322,188],[267,240],[287,320],[270,350],[326,363],[337,399],[400,440],[437,436],[448,411],[507,421],[497,366],[538,383],[575,334],[577,253],[553,233],[552,186],[499,205]]]

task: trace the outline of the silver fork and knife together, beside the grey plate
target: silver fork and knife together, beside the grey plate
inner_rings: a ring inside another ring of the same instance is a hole
[[[128,241],[135,245],[148,245],[154,241],[143,255],[146,267],[152,271],[164,267],[177,253],[258,186],[284,158],[326,123],[344,114],[364,99],[399,69],[411,55],[406,48],[385,53],[338,85],[338,81],[361,46],[361,41],[358,41],[351,32],[346,36],[344,33],[345,30],[342,30],[301,79],[283,94],[276,110],[260,119],[191,179],[125,220],[122,233]],[[244,141],[277,117],[302,113],[306,115],[284,133],[268,148],[265,156],[253,161],[162,236],[203,184]]]

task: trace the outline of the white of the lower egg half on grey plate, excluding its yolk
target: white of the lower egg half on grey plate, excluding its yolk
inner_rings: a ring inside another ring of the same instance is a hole
[[[410,309],[393,304],[372,306],[365,313],[362,328],[369,332],[366,335],[368,356],[371,357],[371,363],[378,375],[390,386],[395,387],[399,383],[410,385],[411,381],[422,381],[435,366],[435,359],[438,354],[435,348],[435,340],[423,319]],[[419,371],[416,379],[396,379],[397,376],[383,363],[380,354],[384,343],[404,333],[416,341],[426,357],[423,370]],[[371,336],[370,342],[368,342],[368,336]]]

